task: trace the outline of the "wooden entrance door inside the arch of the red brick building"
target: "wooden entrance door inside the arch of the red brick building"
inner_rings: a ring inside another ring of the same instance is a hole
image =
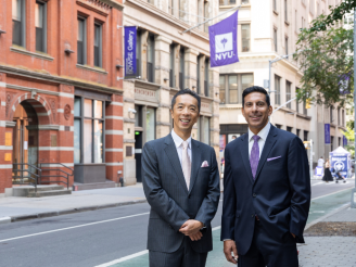
[[[26,177],[28,165],[37,166],[38,163],[38,119],[36,111],[26,101],[22,102],[15,113],[13,120],[16,123],[13,130],[13,177]],[[16,170],[17,169],[17,170]],[[36,169],[29,168],[36,174]]]

